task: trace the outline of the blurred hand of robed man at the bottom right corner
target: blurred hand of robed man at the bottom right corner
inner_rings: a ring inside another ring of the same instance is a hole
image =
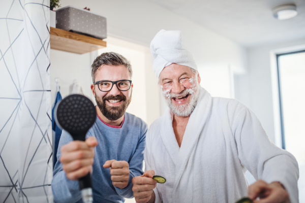
[[[254,203],[289,203],[289,194],[280,182],[258,180],[249,186],[248,196]],[[256,200],[259,197],[259,200]]]

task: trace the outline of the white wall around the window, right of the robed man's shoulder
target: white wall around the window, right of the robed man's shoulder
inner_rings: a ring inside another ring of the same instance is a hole
[[[272,142],[281,147],[279,134],[277,53],[305,49],[305,39],[248,50],[249,70],[235,75],[235,97],[256,114]]]

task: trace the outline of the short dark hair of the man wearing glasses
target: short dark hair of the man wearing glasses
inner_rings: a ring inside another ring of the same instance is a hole
[[[101,70],[103,65],[125,65],[129,72],[130,79],[132,78],[132,69],[130,61],[118,53],[106,52],[99,55],[92,63],[91,76],[93,82],[95,82],[94,79],[96,72],[98,70]]]

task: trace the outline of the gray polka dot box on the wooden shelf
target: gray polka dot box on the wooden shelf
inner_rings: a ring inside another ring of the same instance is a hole
[[[104,16],[73,6],[56,10],[56,28],[99,39],[107,38],[107,24]]]

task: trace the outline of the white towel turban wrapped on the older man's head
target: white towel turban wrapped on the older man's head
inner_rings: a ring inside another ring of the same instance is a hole
[[[182,34],[179,30],[160,30],[150,43],[150,52],[155,58],[153,70],[159,78],[164,67],[177,63],[197,70],[193,54],[182,44]]]

